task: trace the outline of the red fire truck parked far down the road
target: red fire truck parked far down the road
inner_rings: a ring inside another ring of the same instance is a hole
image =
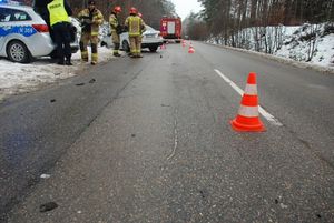
[[[181,20],[179,17],[163,17],[160,20],[161,37],[167,40],[181,41]]]

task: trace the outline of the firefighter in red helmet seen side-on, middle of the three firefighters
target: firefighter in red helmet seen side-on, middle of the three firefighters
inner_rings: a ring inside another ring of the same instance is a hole
[[[119,54],[119,34],[122,31],[121,26],[119,24],[117,16],[121,12],[120,7],[115,7],[110,17],[109,17],[109,23],[110,23],[110,29],[111,29],[111,40],[114,43],[114,55],[115,57],[120,57]]]

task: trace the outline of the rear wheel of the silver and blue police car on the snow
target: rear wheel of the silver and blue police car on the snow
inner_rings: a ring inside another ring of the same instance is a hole
[[[30,52],[21,41],[12,41],[7,47],[7,55],[9,60],[19,63],[30,62]]]

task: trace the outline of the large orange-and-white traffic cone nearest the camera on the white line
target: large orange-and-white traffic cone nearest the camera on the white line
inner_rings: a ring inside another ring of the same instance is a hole
[[[238,114],[230,124],[238,132],[265,131],[264,124],[258,119],[256,73],[249,73]]]

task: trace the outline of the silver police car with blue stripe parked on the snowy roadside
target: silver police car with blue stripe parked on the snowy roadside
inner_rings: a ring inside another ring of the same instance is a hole
[[[55,49],[47,23],[31,7],[0,0],[0,57],[28,63],[32,58],[55,55]],[[77,38],[71,49],[79,49]]]

